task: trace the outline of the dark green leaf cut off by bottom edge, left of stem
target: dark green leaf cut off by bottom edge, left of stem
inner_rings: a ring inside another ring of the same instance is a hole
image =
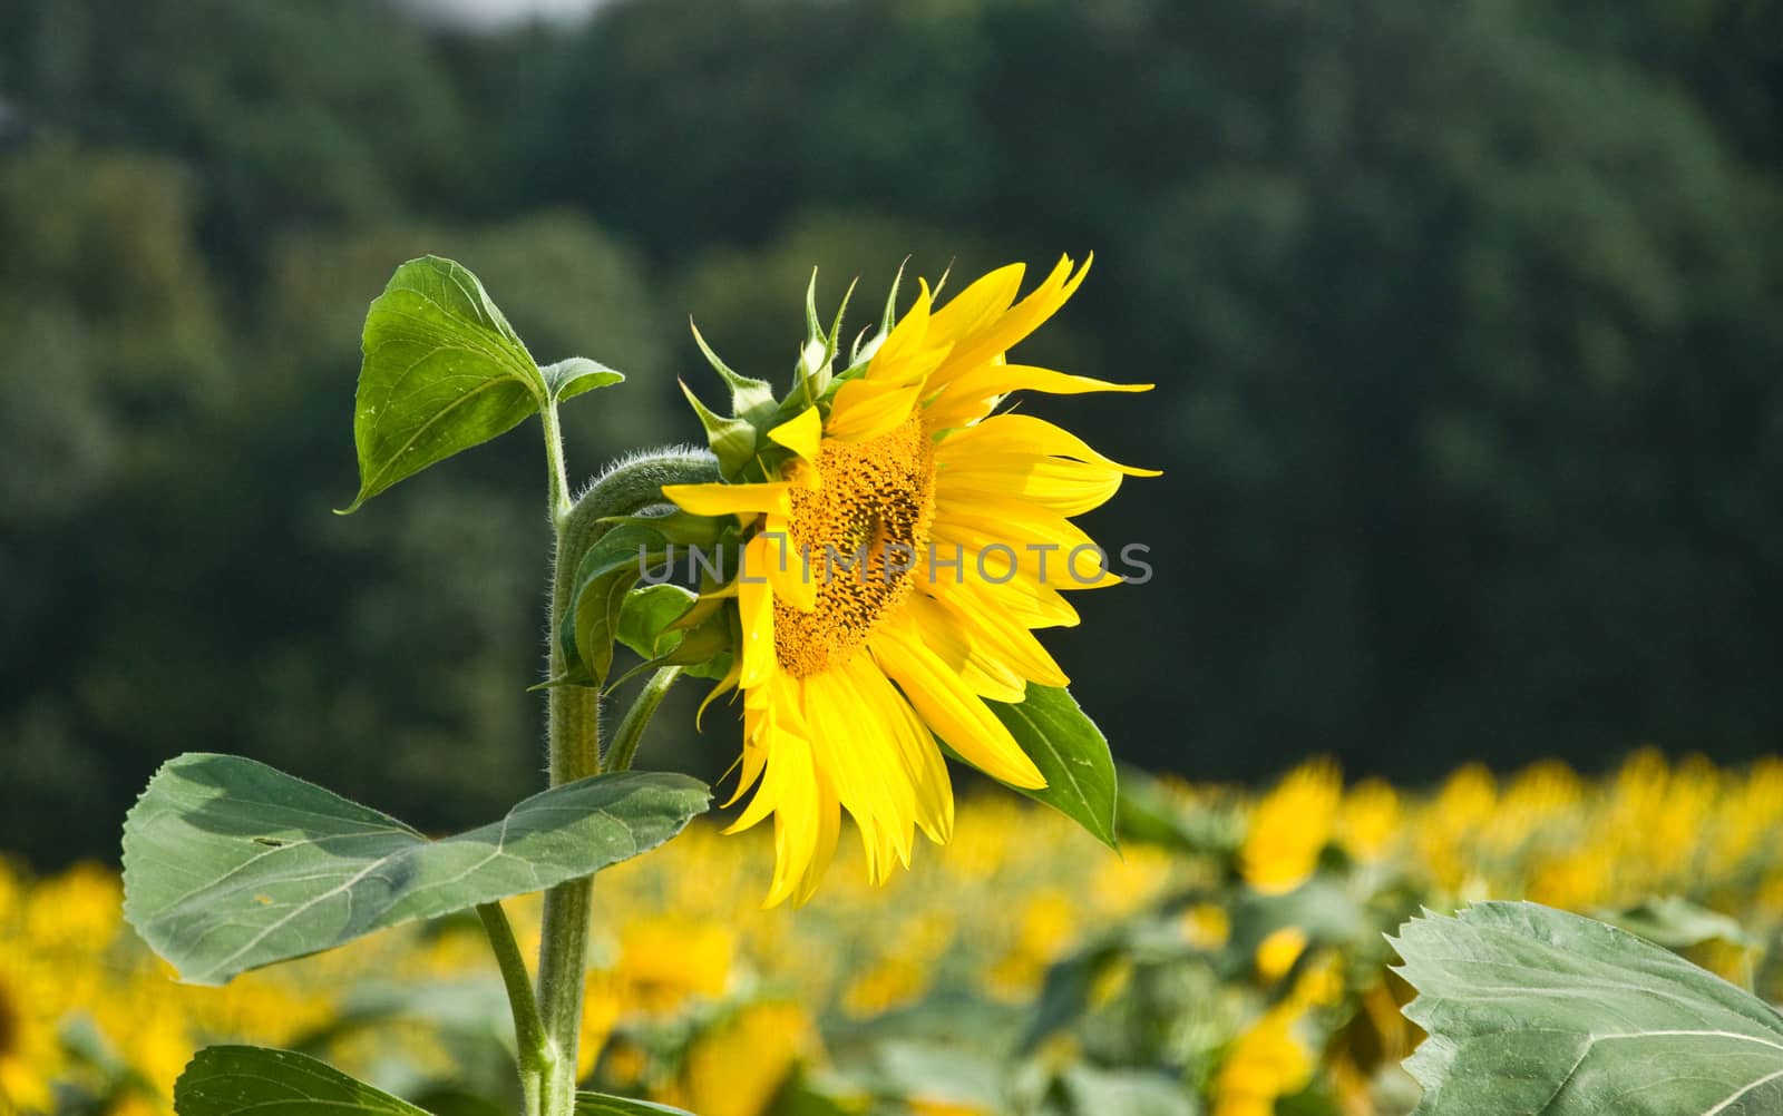
[[[291,1050],[205,1046],[173,1084],[180,1116],[428,1116],[424,1109]]]

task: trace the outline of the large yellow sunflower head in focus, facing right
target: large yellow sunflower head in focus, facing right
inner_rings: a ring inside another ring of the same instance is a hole
[[[922,283],[834,378],[838,330],[827,348],[813,330],[793,394],[754,405],[765,440],[736,478],[663,488],[688,513],[742,524],[742,572],[720,592],[740,631],[726,683],[744,693],[731,800],[754,797],[731,831],[774,816],[768,906],[811,895],[842,809],[875,882],[909,865],[918,829],[945,843],[954,795],[936,738],[1002,783],[1045,786],[986,702],[1066,685],[1032,629],[1077,624],[1061,590],[1122,581],[1070,517],[1127,474],[1155,476],[997,414],[1018,390],[1150,389],[1007,362],[1086,271],[1061,258],[1020,301],[1020,264],[941,307]]]

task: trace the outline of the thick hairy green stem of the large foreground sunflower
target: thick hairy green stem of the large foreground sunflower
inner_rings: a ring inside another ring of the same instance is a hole
[[[663,485],[719,480],[719,464],[706,451],[672,449],[615,465],[569,501],[563,483],[563,446],[555,408],[547,408],[546,460],[551,469],[551,522],[556,549],[551,569],[551,647],[546,677],[565,672],[562,629],[572,624],[576,570],[583,554],[612,526],[615,515],[633,515],[663,503]],[[660,701],[660,697],[658,697]],[[629,718],[628,718],[629,720]],[[645,717],[647,720],[647,717]],[[624,729],[624,726],[620,726]],[[638,729],[642,733],[642,726]],[[592,686],[553,686],[547,699],[546,736],[551,786],[601,774],[601,695]],[[633,749],[637,743],[633,742]],[[538,1061],[537,1116],[572,1116],[576,1109],[578,1045],[581,1039],[583,982],[588,970],[588,920],[594,877],[558,884],[546,891],[538,938]],[[522,1082],[526,1068],[522,1059]],[[530,1111],[531,1112],[531,1111]]]

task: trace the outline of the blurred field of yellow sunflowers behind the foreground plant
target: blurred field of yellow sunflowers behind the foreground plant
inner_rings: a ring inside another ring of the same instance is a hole
[[[1428,793],[1309,763],[1273,790],[1123,774],[1122,852],[1007,795],[881,886],[838,865],[761,907],[756,833],[695,824],[599,877],[579,1077],[701,1116],[1407,1112],[1393,932],[1533,899],[1624,925],[1758,995],[1783,761],[1639,752]],[[843,861],[863,856],[852,843]],[[0,872],[0,1086],[16,1112],[171,1112],[198,1046],[310,1052],[437,1114],[512,1111],[512,1030],[474,918],[237,977],[169,981],[116,872]],[[522,947],[535,902],[508,904]],[[624,911],[622,918],[612,911]]]

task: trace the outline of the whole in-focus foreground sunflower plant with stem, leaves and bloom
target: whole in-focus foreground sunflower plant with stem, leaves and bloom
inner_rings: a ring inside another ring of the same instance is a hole
[[[918,585],[913,567],[893,569],[886,549],[931,542],[931,519],[947,519],[934,492],[945,496],[949,485],[956,497],[1002,513],[1029,510],[1023,529],[1057,549],[1047,540],[1080,537],[1066,515],[1113,496],[1123,474],[1143,472],[1038,419],[990,414],[1016,389],[1113,389],[1004,360],[1063,305],[1082,271],[1061,262],[1016,303],[1020,278],[1020,267],[991,273],[933,317],[924,287],[904,326],[893,287],[879,332],[854,344],[842,371],[842,316],[822,328],[813,278],[792,392],[776,399],[767,382],[731,371],[708,349],[733,403],[731,415],[719,415],[688,396],[711,451],[633,456],[572,497],[558,406],[624,378],[579,357],[535,364],[474,275],[437,257],[403,264],[366,319],[355,412],[360,490],[346,512],[540,417],[555,553],[549,672],[537,688],[549,704],[551,784],[501,820],[430,840],[253,759],[185,754],[155,774],[125,822],[128,922],[185,981],[219,984],[399,922],[474,909],[508,991],[526,1116],[663,1112],[578,1093],[576,1075],[592,879],[670,840],[708,808],[710,790],[692,777],[631,770],[678,679],[713,677],[713,695],[744,695],[738,795],[760,781],[744,824],[768,811],[776,818],[770,899],[809,895],[843,808],[859,824],[875,877],[893,859],[908,861],[916,827],[947,840],[952,792],[933,731],[956,758],[1113,843],[1107,742],[1029,635],[1070,611],[1045,574],[1020,583],[1027,595],[1006,599],[998,587],[1015,574],[984,574],[984,544],[974,551],[982,578],[961,576],[952,588]],[[936,458],[950,467],[945,481]],[[886,481],[888,464],[908,467],[902,487]],[[998,494],[1011,472],[1045,478],[1032,508]],[[767,501],[761,513],[752,499]],[[811,547],[831,549],[840,538],[827,529],[850,544],[859,535],[861,554],[879,547],[863,558],[879,579],[867,579],[867,565],[858,587],[817,579],[822,558],[811,560]],[[797,576],[785,556],[779,570],[749,565],[765,562],[776,538],[801,544]],[[640,585],[654,581],[654,562],[694,544],[717,560],[717,569],[701,569],[699,594]],[[1077,581],[1063,588],[1120,578],[1102,570]],[[916,601],[933,613],[920,624],[900,611]],[[867,635],[884,644],[868,649]],[[622,681],[613,677],[615,642],[644,660],[622,677],[649,679],[608,736],[601,699]],[[818,690],[817,676],[842,681]],[[843,695],[865,704],[845,710]],[[863,767],[870,763],[879,767]],[[531,891],[544,891],[537,975],[501,907]],[[182,1116],[264,1105],[415,1111],[307,1055],[251,1046],[201,1052],[175,1105]]]

